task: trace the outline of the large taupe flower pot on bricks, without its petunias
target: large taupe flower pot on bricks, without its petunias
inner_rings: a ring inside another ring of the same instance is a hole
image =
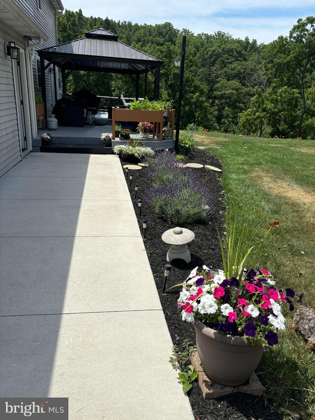
[[[215,382],[230,387],[244,384],[258,366],[263,349],[242,337],[223,335],[195,320],[196,344],[201,364]]]

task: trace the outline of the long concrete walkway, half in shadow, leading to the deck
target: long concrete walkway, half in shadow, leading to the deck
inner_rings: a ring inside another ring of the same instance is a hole
[[[118,157],[33,153],[4,175],[0,266],[1,397],[193,419]]]

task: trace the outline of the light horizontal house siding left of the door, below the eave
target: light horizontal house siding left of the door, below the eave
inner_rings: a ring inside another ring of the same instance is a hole
[[[8,39],[0,32],[0,44]],[[21,160],[12,60],[0,49],[0,176]]]

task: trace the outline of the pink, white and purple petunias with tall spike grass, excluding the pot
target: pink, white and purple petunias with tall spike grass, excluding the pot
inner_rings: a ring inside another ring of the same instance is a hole
[[[186,282],[177,285],[182,286],[178,309],[183,321],[198,320],[222,334],[241,336],[255,345],[273,346],[278,343],[278,329],[285,329],[282,306],[288,304],[291,311],[294,309],[294,291],[277,290],[268,270],[253,268],[270,230],[245,269],[254,247],[243,247],[244,228],[235,241],[235,226],[234,222],[227,235],[227,258],[219,235],[224,270],[210,270],[206,265],[202,270],[194,268]]]

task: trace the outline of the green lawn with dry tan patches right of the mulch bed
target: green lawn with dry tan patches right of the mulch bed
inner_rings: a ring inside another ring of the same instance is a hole
[[[272,229],[260,258],[278,287],[305,291],[315,302],[315,140],[264,139],[196,133],[199,145],[223,163],[227,210],[237,212],[238,227],[251,220],[261,237]],[[244,142],[251,142],[244,143]],[[284,314],[287,329],[264,352],[257,374],[265,397],[286,419],[315,418],[315,352],[291,331],[294,313]]]

